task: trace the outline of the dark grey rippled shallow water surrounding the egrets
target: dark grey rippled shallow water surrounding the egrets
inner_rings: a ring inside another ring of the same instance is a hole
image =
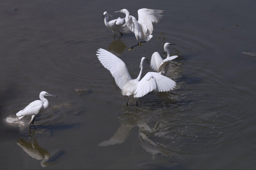
[[[256,168],[256,2],[135,4],[0,2],[0,169]],[[128,51],[135,36],[113,37],[100,18],[104,11],[124,17],[113,13],[123,8],[137,18],[143,7],[164,17],[150,41]],[[131,98],[127,107],[97,49],[120,57],[135,78],[141,57],[166,56],[165,42],[177,44],[169,47],[179,57],[166,75],[177,87],[141,97],[138,107]],[[5,123],[43,90],[58,98],[47,97],[31,135]]]

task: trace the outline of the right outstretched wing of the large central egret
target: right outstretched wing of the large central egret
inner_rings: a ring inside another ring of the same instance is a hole
[[[164,75],[160,75],[157,72],[148,72],[138,82],[137,89],[135,90],[133,97],[142,97],[153,90],[166,92],[173,90],[175,86],[176,82],[172,79]]]

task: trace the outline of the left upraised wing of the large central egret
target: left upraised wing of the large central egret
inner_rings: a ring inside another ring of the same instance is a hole
[[[122,90],[125,83],[131,80],[125,63],[111,52],[102,48],[98,49],[97,53],[96,55],[102,65],[111,72],[112,76],[115,78],[115,83]]]

